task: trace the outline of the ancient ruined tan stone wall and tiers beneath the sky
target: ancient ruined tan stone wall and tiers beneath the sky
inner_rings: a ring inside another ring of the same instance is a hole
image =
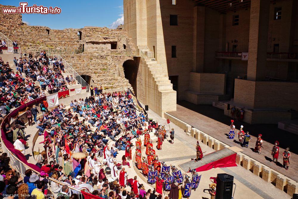
[[[7,6],[0,5],[0,9],[2,7]],[[41,49],[60,52],[57,49],[62,49],[65,51],[61,56],[80,75],[90,75],[92,85],[102,85],[105,89],[131,87],[124,77],[122,64],[133,59],[136,49],[123,26],[117,29],[84,27],[55,30],[23,24],[21,15],[1,14],[0,20],[0,31],[10,40],[18,41],[22,54],[36,53]],[[77,35],[79,31],[82,33],[81,40]],[[116,42],[116,49],[111,49],[111,43],[115,45]],[[83,46],[83,53],[69,54],[70,49],[82,49]]]

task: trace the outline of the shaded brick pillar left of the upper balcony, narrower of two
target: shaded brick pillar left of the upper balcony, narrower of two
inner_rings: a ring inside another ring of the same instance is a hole
[[[193,8],[193,71],[204,71],[205,7]]]

